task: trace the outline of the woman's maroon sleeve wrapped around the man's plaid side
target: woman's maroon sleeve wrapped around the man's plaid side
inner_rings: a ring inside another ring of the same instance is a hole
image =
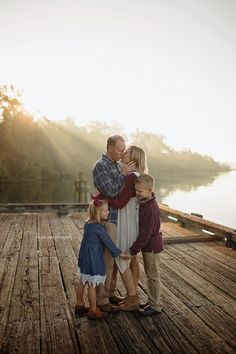
[[[124,183],[124,186],[120,192],[120,196],[118,199],[114,198],[107,198],[109,206],[112,206],[113,208],[118,208],[122,209],[130,198],[135,196],[135,188],[134,188],[134,180],[137,178],[137,176],[134,173],[130,173]]]

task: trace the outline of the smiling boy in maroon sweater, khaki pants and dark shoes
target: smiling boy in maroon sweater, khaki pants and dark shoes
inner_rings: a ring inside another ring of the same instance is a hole
[[[148,279],[148,304],[139,310],[143,316],[161,312],[160,303],[160,255],[164,250],[160,232],[160,209],[153,193],[154,178],[141,174],[135,180],[135,192],[139,199],[139,235],[130,247],[130,254],[143,254],[144,270]]]

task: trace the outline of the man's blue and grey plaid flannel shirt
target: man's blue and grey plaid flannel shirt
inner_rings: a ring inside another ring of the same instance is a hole
[[[93,167],[93,182],[95,188],[104,197],[118,198],[121,187],[125,182],[125,175],[120,173],[120,165],[110,160],[105,154],[95,162]],[[117,223],[118,210],[109,207],[108,221]]]

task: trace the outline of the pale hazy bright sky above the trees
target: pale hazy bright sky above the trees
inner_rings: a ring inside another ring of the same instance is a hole
[[[0,86],[236,167],[235,0],[0,0]]]

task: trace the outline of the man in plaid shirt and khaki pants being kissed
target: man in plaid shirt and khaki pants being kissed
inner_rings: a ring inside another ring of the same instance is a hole
[[[135,169],[135,163],[127,165],[117,163],[125,152],[125,140],[120,135],[113,135],[107,140],[106,153],[95,162],[93,167],[94,186],[104,197],[116,198],[125,182],[126,175]],[[118,211],[109,208],[106,229],[112,241],[116,242],[116,224]],[[117,268],[110,252],[105,249],[104,261],[106,266],[105,285],[100,285],[97,292],[97,302],[102,311],[117,312],[119,308],[112,303],[118,303],[122,298],[116,296]],[[111,303],[112,302],[112,303]]]

